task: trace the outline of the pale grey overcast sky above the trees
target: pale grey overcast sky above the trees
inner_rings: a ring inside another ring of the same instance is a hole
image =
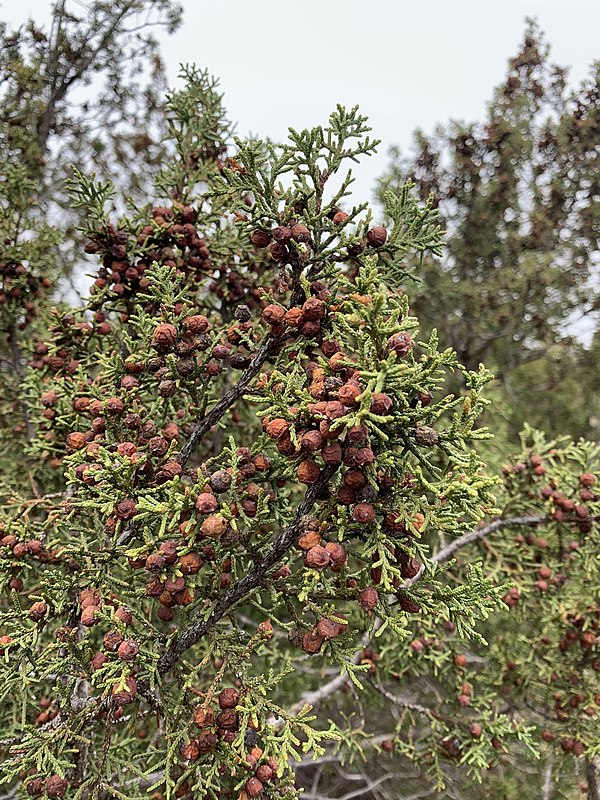
[[[0,0],[0,19],[48,17],[48,0]],[[184,0],[185,21],[159,32],[169,76],[179,64],[207,67],[221,81],[241,136],[281,139],[288,126],[325,123],[336,103],[359,105],[376,156],[355,168],[356,201],[372,199],[392,144],[410,145],[454,117],[481,118],[492,88],[536,17],[553,59],[573,82],[600,58],[599,0]]]

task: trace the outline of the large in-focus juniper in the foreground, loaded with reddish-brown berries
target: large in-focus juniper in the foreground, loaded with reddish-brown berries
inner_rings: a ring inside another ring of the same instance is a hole
[[[115,187],[73,173],[83,306],[28,280],[40,239],[16,231],[2,256],[2,783],[291,798],[307,760],[372,747],[431,791],[457,765],[481,777],[533,726],[489,685],[455,702],[509,586],[451,558],[536,520],[484,521],[490,373],[421,337],[397,288],[411,254],[440,251],[432,205],[390,194],[387,227],[352,205],[349,164],[377,145],[358,109],[231,142],[190,69],[167,125],[147,204],[122,215]],[[347,691],[358,712],[323,713]],[[383,735],[360,713],[373,696],[402,709]]]

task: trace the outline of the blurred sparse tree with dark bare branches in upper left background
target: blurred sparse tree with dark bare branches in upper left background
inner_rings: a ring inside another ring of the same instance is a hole
[[[166,91],[153,32],[172,33],[180,21],[171,0],[57,0],[47,26],[0,22],[0,191],[22,184],[18,199],[2,195],[3,214],[14,216],[4,220],[3,238],[14,228],[23,235],[26,224],[30,236],[37,224],[68,231],[56,274],[46,278],[82,283],[77,216],[64,186],[71,163],[118,177],[123,194],[146,196],[163,155]]]

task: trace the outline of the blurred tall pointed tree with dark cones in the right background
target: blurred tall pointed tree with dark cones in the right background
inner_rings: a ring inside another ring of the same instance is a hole
[[[380,192],[411,179],[422,198],[433,193],[447,249],[421,265],[414,308],[469,369],[495,371],[513,435],[521,410],[547,425],[550,395],[557,432],[585,435],[598,416],[593,396],[572,391],[595,371],[573,337],[598,306],[598,80],[596,65],[571,91],[529,23],[485,120],[417,132],[415,154],[396,151],[380,181]]]

